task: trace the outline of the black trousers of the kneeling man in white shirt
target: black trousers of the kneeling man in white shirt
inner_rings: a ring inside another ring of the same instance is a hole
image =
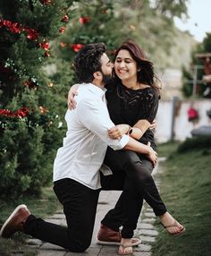
[[[102,175],[103,189],[123,190],[124,174]],[[46,222],[30,215],[24,225],[24,232],[48,243],[62,246],[71,252],[84,252],[91,243],[99,190],[72,179],[55,182],[54,191],[63,205],[67,227]]]

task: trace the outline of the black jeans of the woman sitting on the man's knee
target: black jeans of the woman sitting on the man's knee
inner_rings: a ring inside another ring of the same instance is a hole
[[[165,214],[166,208],[156,183],[151,175],[153,166],[144,155],[137,155],[132,151],[108,148],[105,155],[106,166],[113,174],[124,172],[126,175],[124,190],[114,209],[108,211],[102,224],[114,230],[122,228],[122,237],[129,238],[136,229],[143,199],[148,202],[156,216]]]

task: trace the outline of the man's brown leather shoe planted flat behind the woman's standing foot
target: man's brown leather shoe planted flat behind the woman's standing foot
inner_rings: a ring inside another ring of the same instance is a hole
[[[114,231],[113,229],[101,224],[100,229],[97,234],[97,243],[98,244],[106,244],[106,245],[120,245],[121,244],[122,235],[118,231]],[[141,243],[139,238],[131,238],[132,246],[139,245]]]

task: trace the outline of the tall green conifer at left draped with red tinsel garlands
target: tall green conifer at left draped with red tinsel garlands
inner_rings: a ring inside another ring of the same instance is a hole
[[[71,5],[64,0],[0,3],[2,196],[38,193],[51,180],[63,133],[60,109],[66,106],[64,95],[56,96],[64,91],[61,83],[49,76],[56,57],[51,47]]]

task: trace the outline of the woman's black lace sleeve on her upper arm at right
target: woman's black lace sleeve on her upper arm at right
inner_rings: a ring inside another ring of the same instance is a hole
[[[139,113],[141,113],[140,119],[147,119],[148,122],[151,124],[156,118],[158,102],[159,98],[156,92],[150,91],[148,93],[148,96],[146,96],[144,100],[144,104],[141,104],[144,109],[139,109]]]

